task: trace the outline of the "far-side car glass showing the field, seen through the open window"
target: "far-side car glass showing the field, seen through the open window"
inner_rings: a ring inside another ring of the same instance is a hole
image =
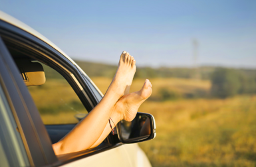
[[[37,105],[43,123],[45,125],[78,123],[78,120],[88,113],[84,105],[59,72],[45,64],[42,66],[45,71],[45,84],[27,88]]]

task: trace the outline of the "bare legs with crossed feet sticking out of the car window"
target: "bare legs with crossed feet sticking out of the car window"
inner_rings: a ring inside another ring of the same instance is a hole
[[[115,124],[122,119],[126,121],[134,119],[138,107],[152,93],[152,85],[149,80],[146,80],[140,91],[129,93],[130,85],[136,72],[135,63],[130,54],[125,51],[122,52],[118,70],[106,94],[100,103],[70,133],[59,142],[53,144],[55,154],[78,152],[98,146],[111,131],[108,123],[110,117]],[[114,126],[112,124],[112,127]]]

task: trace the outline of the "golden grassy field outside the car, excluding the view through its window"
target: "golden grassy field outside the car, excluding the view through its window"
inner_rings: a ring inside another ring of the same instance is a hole
[[[102,93],[111,80],[92,78]],[[256,166],[256,96],[228,99],[190,98],[159,101],[160,89],[180,95],[209,93],[208,81],[150,80],[152,100],[139,111],[156,119],[156,138],[140,143],[152,166]],[[131,91],[144,80],[134,80]]]

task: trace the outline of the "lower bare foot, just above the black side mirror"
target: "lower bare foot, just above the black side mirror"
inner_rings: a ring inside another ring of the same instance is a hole
[[[140,91],[136,91],[134,93],[129,93],[128,95],[124,95],[122,98],[118,100],[115,107],[120,115],[118,121],[132,121],[137,114],[137,111],[140,105],[150,97],[152,93],[152,84],[150,80],[146,80],[142,89]]]

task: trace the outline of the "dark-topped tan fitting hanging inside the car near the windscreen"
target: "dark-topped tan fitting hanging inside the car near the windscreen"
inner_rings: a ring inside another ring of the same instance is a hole
[[[15,62],[27,86],[45,84],[45,72],[40,63],[31,62],[27,59],[15,59]]]

